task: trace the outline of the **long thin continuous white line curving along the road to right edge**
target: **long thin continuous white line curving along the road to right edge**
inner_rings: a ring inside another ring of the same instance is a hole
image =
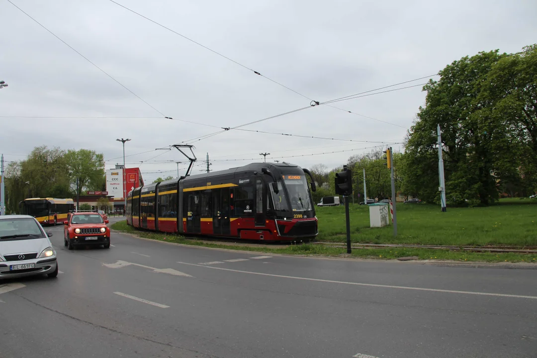
[[[178,264],[183,264],[183,265],[190,265],[190,266],[207,267],[207,268],[212,268],[212,269],[215,269],[215,270],[240,272],[240,273],[252,274],[252,275],[262,275],[262,276],[281,277],[281,278],[284,278],[284,279],[305,280],[305,281],[317,281],[317,282],[329,282],[329,283],[343,283],[343,284],[351,284],[351,285],[355,285],[355,286],[368,286],[368,287],[380,287],[380,288],[396,288],[396,289],[404,289],[404,290],[445,292],[445,293],[451,293],[451,294],[464,294],[464,295],[480,295],[480,296],[497,296],[497,297],[513,297],[513,298],[529,298],[529,299],[537,299],[537,296],[507,295],[507,294],[494,294],[494,293],[488,293],[488,292],[442,290],[442,289],[437,289],[437,288],[407,287],[407,286],[391,286],[391,285],[388,285],[388,284],[375,284],[375,283],[360,283],[360,282],[333,281],[333,280],[323,280],[323,279],[310,279],[309,277],[296,277],[296,276],[285,276],[285,275],[266,274],[266,273],[262,273],[262,272],[241,271],[241,270],[234,270],[234,269],[223,268],[223,267],[214,267],[214,266],[196,265],[196,264],[190,264],[190,263],[188,263],[188,262],[180,262],[180,261],[177,261],[177,263],[178,263]]]

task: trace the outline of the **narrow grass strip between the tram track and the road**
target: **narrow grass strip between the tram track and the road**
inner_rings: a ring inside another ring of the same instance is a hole
[[[179,235],[169,233],[157,233],[136,230],[127,225],[126,221],[114,223],[112,229],[134,233],[137,236],[165,241],[169,243],[185,244],[192,246],[213,247],[226,250],[241,250],[262,253],[295,254],[295,255],[319,255],[328,257],[354,257],[389,260],[399,257],[416,256],[420,260],[455,260],[468,262],[537,262],[537,254],[516,254],[516,253],[489,253],[489,252],[459,252],[449,250],[430,249],[353,249],[352,254],[346,254],[346,249],[339,247],[329,247],[318,244],[289,245],[287,247],[249,246],[249,245],[228,245],[214,242],[204,242],[201,239],[186,239]]]

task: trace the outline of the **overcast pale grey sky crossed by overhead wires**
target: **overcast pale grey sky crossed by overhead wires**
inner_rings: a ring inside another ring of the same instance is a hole
[[[211,170],[262,162],[260,153],[270,153],[267,162],[332,169],[374,146],[403,150],[425,104],[422,86],[332,104],[340,109],[310,99],[430,76],[388,89],[423,84],[463,56],[515,53],[537,42],[534,0],[117,0],[206,48],[110,0],[11,2],[87,60],[0,0],[5,160],[24,159],[39,145],[85,148],[103,153],[108,169],[123,160],[116,139],[130,138],[126,166],[140,167],[146,182],[176,177],[175,162],[184,174],[179,151],[155,150],[179,143],[195,146],[192,174],[206,169],[207,153]],[[252,131],[193,140],[308,106],[241,127]],[[55,118],[35,118],[46,116]]]

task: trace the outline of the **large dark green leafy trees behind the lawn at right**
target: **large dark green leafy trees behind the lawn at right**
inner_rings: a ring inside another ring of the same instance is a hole
[[[535,186],[537,53],[481,52],[454,61],[424,86],[426,105],[411,127],[404,188],[438,202],[436,129],[442,129],[448,203],[487,205],[502,183]]]

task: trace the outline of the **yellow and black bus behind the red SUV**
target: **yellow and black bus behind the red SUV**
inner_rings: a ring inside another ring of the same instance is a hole
[[[19,203],[20,213],[31,215],[40,224],[64,223],[67,221],[67,213],[75,210],[75,202],[72,199],[54,198],[29,198]]]

